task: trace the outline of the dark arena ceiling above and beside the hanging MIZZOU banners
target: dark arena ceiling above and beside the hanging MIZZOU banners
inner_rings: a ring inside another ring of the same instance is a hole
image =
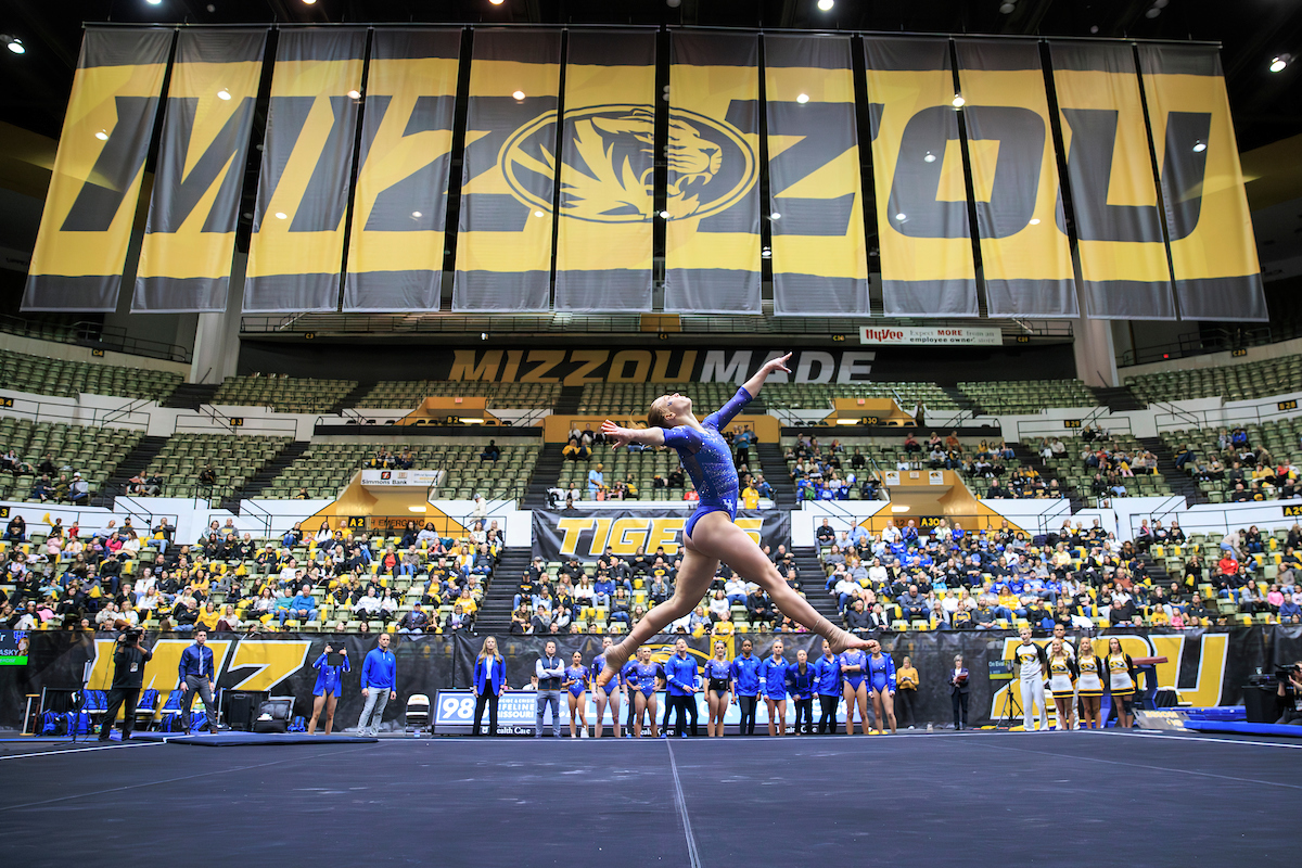
[[[669,4],[673,3],[671,7]],[[611,23],[792,27],[1223,43],[1240,147],[1302,133],[1302,0],[7,0],[0,121],[59,137],[85,21]],[[1280,73],[1271,60],[1299,59]]]

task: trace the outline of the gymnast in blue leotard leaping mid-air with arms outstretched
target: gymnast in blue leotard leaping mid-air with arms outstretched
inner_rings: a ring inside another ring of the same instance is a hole
[[[700,502],[684,527],[686,552],[678,567],[673,597],[655,606],[633,625],[629,635],[605,653],[605,666],[598,685],[605,685],[633,652],[664,630],[671,621],[691,612],[710,588],[719,563],[724,562],[747,582],[759,584],[786,616],[805,625],[832,644],[837,653],[863,648],[865,640],[835,626],[783,580],[777,567],[759,545],[733,523],[737,518],[737,468],[723,433],[728,423],[759,393],[775,371],[790,372],[790,353],[767,360],[728,403],[703,422],[693,414],[691,398],[674,392],[651,402],[646,428],[621,428],[609,419],[602,424],[607,442],[616,449],[630,444],[671,446],[691,476]]]

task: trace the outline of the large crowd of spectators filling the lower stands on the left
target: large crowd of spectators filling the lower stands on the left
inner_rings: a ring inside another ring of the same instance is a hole
[[[311,630],[333,616],[361,632],[444,632],[474,625],[503,536],[496,522],[475,522],[465,539],[409,522],[388,540],[327,526],[305,536],[296,524],[263,543],[227,519],[177,544],[163,518],[85,534],[55,519],[29,540],[16,515],[3,543],[14,591],[0,590],[0,623],[12,629]]]

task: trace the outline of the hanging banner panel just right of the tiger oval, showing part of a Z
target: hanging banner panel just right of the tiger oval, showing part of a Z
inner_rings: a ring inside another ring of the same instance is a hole
[[[764,36],[773,312],[867,316],[848,36]]]

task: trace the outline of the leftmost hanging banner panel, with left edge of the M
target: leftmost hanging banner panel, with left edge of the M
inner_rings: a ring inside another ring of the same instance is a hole
[[[86,29],[22,310],[117,308],[172,35]]]

